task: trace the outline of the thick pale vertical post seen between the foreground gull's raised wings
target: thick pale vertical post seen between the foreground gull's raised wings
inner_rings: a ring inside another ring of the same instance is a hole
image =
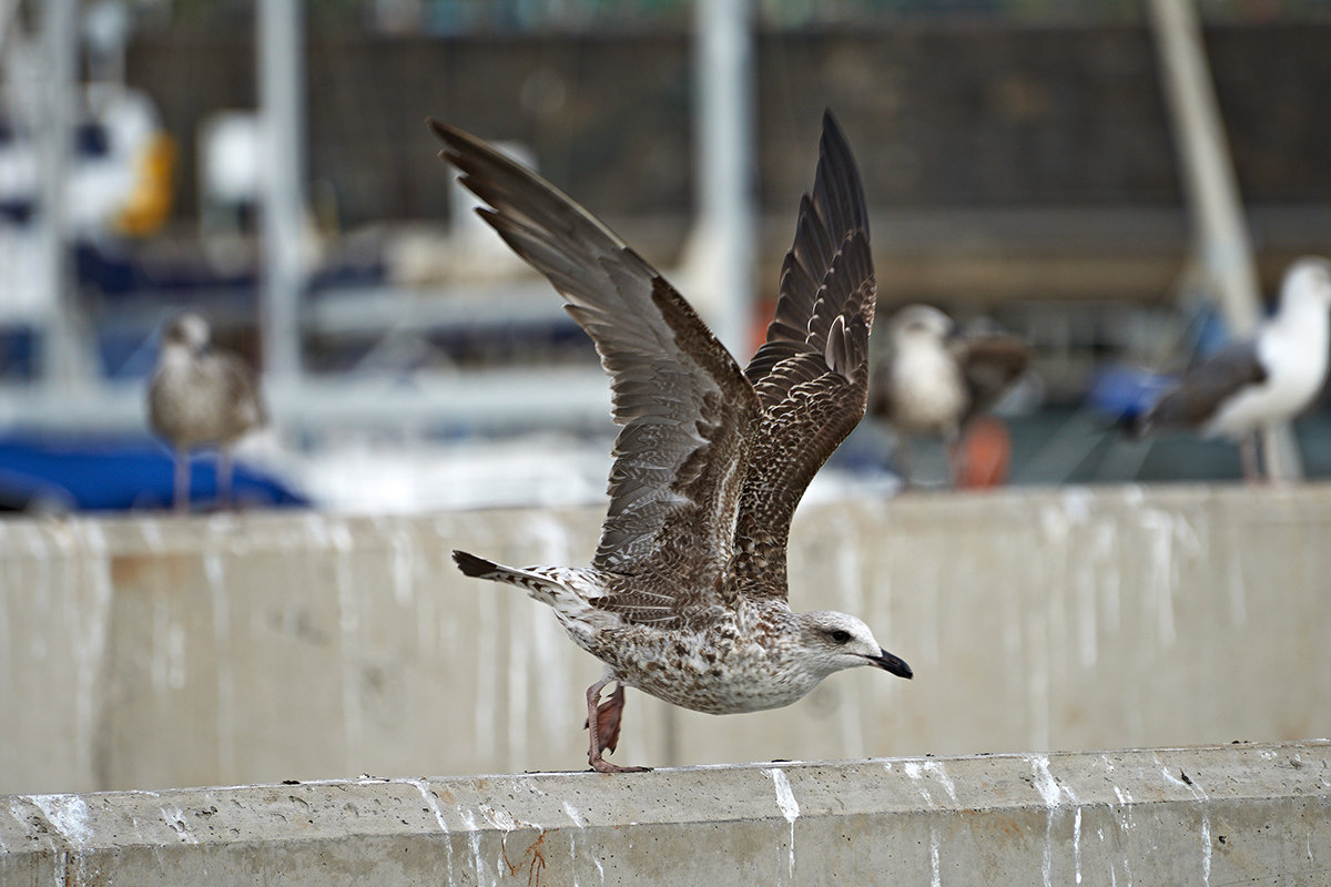
[[[695,235],[717,338],[739,356],[753,289],[753,31],[749,0],[696,0],[697,207]]]

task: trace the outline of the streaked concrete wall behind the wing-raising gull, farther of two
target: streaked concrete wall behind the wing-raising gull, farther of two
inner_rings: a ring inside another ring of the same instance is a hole
[[[0,791],[586,761],[599,664],[449,549],[586,563],[600,509],[0,523]],[[671,765],[1331,737],[1331,487],[808,503],[792,602],[916,670],[712,717],[631,692]]]

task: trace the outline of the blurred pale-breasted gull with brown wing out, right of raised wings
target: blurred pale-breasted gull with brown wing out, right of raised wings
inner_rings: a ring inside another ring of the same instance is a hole
[[[918,435],[942,438],[960,476],[961,430],[1026,371],[1030,348],[1009,335],[958,336],[952,318],[929,305],[892,315],[888,348],[873,372],[869,412],[896,432],[902,476],[909,483],[906,442]]]

